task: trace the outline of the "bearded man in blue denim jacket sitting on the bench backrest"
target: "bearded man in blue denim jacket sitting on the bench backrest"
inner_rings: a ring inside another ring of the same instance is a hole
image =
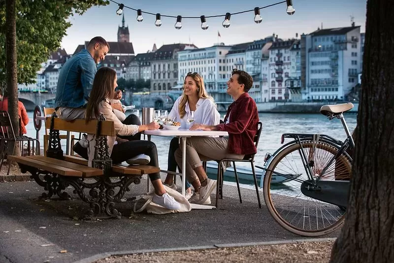
[[[63,65],[56,90],[55,107],[64,120],[85,117],[84,105],[89,97],[97,64],[104,60],[109,45],[104,38],[90,40],[86,49],[69,58]]]

